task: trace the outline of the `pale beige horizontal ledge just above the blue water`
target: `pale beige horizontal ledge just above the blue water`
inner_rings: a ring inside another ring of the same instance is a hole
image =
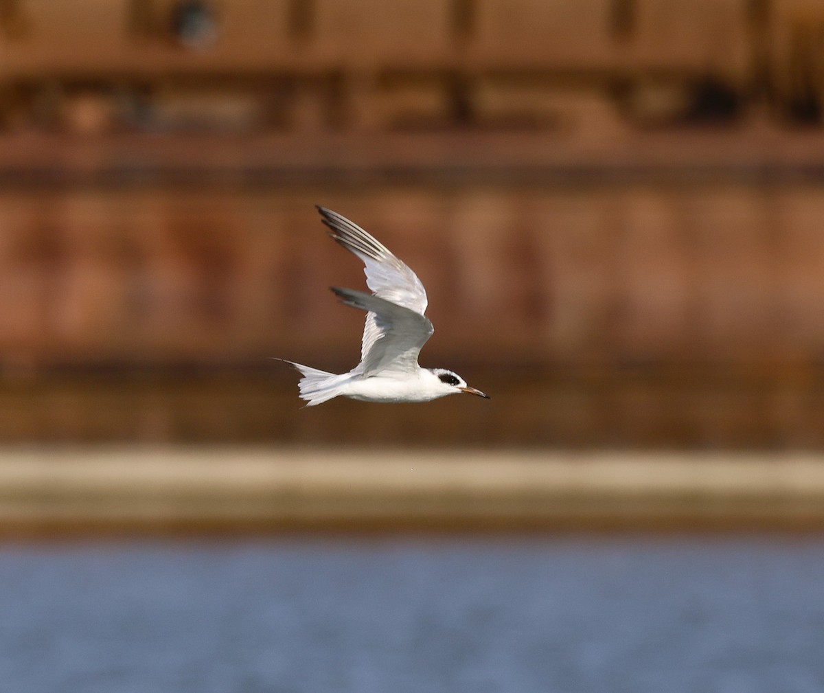
[[[824,529],[802,453],[6,449],[0,531]]]

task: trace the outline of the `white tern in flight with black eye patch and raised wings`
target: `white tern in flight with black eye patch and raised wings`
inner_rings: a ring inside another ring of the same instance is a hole
[[[489,399],[456,372],[418,365],[420,349],[434,330],[424,316],[424,285],[414,272],[357,224],[325,207],[317,211],[332,239],[363,260],[372,293],[332,287],[341,303],[367,313],[361,360],[351,371],[335,374],[278,359],[301,372],[298,387],[306,406],[339,396],[367,402],[428,402],[466,392]]]

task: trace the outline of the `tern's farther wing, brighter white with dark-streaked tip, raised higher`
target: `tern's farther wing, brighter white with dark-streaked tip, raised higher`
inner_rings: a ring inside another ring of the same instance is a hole
[[[366,284],[373,295],[424,315],[427,305],[426,291],[420,279],[409,267],[398,260],[380,241],[349,219],[325,207],[318,207],[317,211],[321,213],[322,221],[329,227],[329,235],[335,242],[363,260]],[[376,318],[373,311],[369,311],[366,316],[361,343],[361,363],[368,358],[377,339],[382,338],[383,330],[377,325]],[[432,323],[427,322],[431,330]],[[421,344],[425,341],[426,339]]]

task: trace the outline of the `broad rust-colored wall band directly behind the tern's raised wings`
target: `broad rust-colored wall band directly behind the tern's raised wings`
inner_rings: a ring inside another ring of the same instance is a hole
[[[728,184],[6,192],[0,355],[343,367],[361,316],[326,287],[363,279],[315,202],[419,273],[437,327],[428,360],[814,363],[824,351],[824,191]]]

